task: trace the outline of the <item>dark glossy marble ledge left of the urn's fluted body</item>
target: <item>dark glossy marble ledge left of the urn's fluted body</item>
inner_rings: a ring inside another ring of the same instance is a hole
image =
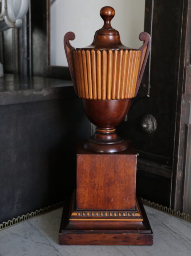
[[[66,95],[74,95],[71,80],[13,74],[0,78],[0,105],[52,100]]]

